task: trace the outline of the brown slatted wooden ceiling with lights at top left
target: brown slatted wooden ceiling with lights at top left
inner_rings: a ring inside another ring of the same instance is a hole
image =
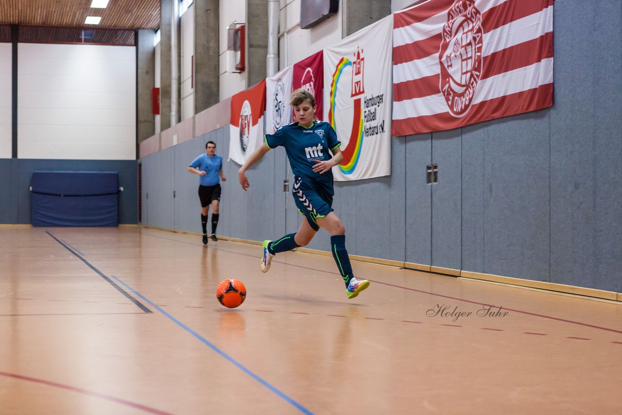
[[[0,24],[91,27],[86,16],[100,16],[92,27],[157,29],[160,0],[110,0],[106,9],[91,9],[91,0],[0,0]]]

